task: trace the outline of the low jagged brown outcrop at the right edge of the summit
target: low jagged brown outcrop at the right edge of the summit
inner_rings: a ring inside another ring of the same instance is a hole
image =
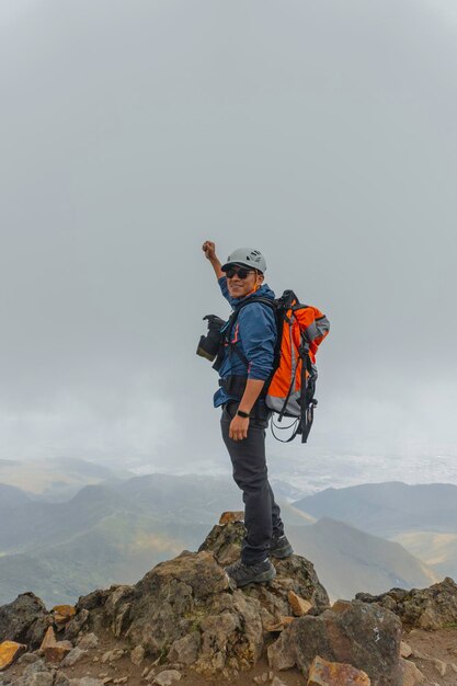
[[[391,588],[380,595],[357,593],[355,597],[390,609],[407,627],[433,631],[457,624],[457,584],[449,578],[429,588]]]

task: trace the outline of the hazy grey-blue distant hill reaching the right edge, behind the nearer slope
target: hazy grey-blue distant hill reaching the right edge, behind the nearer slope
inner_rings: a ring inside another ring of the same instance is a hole
[[[325,489],[294,505],[385,538],[411,530],[457,533],[457,485],[448,483],[364,483]]]

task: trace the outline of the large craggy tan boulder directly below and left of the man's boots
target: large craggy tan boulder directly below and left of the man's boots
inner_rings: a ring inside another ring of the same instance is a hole
[[[260,605],[230,588],[212,553],[185,552],[161,562],[136,591],[126,638],[142,645],[146,654],[165,652],[169,660],[186,664],[192,659],[199,672],[208,674],[221,670],[230,658],[252,665],[260,656]]]

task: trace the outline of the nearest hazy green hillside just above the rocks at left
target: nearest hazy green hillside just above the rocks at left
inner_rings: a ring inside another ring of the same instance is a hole
[[[195,550],[207,528],[134,514],[106,516],[65,542],[0,557],[0,606],[28,590],[52,607],[72,604],[96,587],[134,583],[158,562]]]

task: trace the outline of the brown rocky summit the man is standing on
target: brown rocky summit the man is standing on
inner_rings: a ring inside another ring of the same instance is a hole
[[[404,659],[401,619],[419,616],[407,613],[409,598],[422,615],[433,610],[434,626],[456,621],[452,580],[422,592],[421,602],[393,590],[330,606],[312,563],[292,556],[273,560],[272,582],[236,588],[224,567],[239,557],[244,526],[238,517],[224,522],[197,552],[157,564],[135,585],[94,591],[50,611],[32,593],[0,607],[0,684],[426,683]]]

